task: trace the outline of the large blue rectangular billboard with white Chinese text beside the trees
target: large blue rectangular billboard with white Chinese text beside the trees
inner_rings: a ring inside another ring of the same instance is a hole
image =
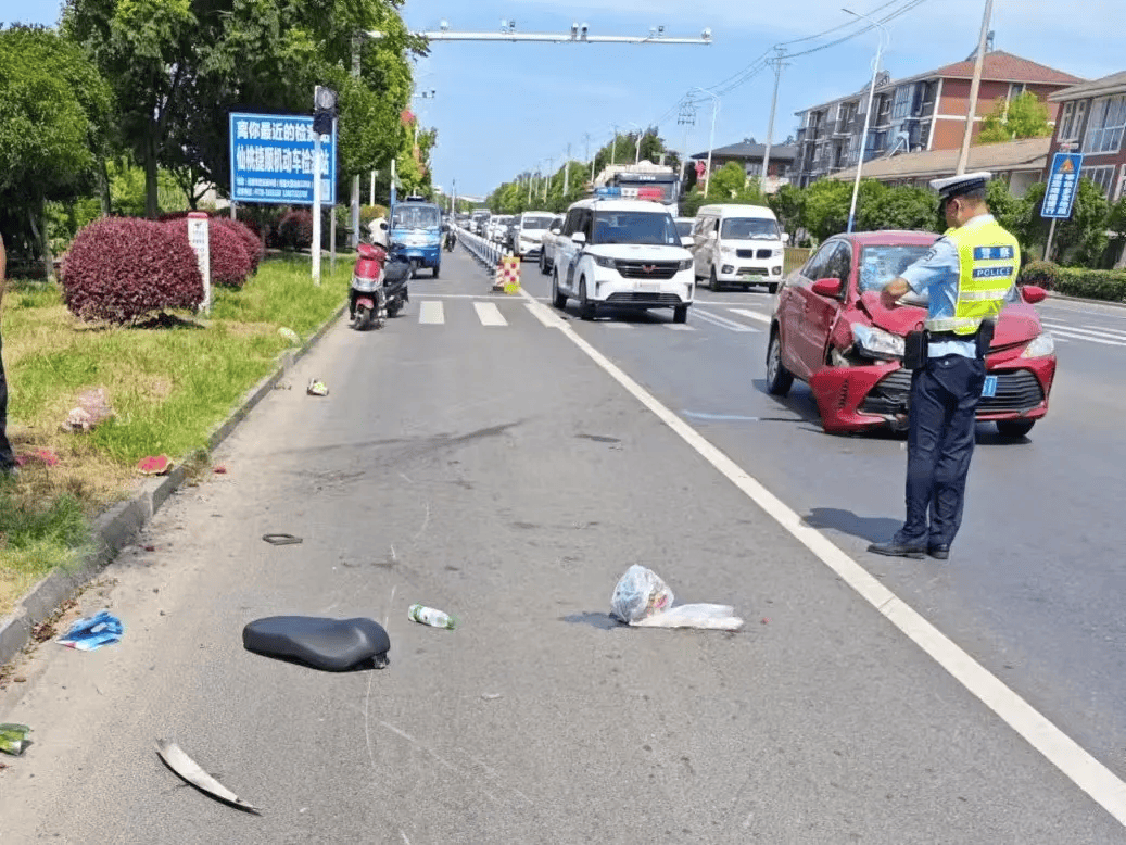
[[[313,204],[313,118],[231,113],[231,201]],[[337,202],[337,135],[321,139],[321,202]]]

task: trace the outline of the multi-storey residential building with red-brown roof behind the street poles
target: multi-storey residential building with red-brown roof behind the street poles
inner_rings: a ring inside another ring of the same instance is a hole
[[[881,74],[873,98],[864,160],[894,152],[959,148],[966,115],[971,112],[973,72],[974,56],[971,56],[964,62],[906,79],[892,79],[886,72]],[[1082,81],[1011,53],[989,52],[983,62],[974,121],[981,122],[998,99],[1008,101],[1024,91],[1046,100],[1048,117],[1054,121],[1060,104],[1048,98]],[[797,113],[801,126],[794,180],[798,185],[808,185],[860,160],[868,90],[865,87],[856,94]]]

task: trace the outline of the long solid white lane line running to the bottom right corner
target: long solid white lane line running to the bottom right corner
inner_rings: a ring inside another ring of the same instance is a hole
[[[538,303],[535,306],[544,308]],[[781,499],[767,490],[688,422],[661,404],[652,393],[626,375],[620,367],[580,337],[574,329],[570,326],[562,326],[560,331],[586,353],[587,357],[601,367],[607,375],[620,384],[627,393],[652,411],[697,454],[738,487],[744,496],[769,514],[868,604],[906,634],[908,639],[930,655],[958,683],[997,713],[1001,721],[1024,737],[1033,748],[1043,754],[1072,783],[1102,806],[1120,825],[1126,826],[1126,782],[1123,782],[1075,740],[1006,686],[1000,678],[887,589],[864,567],[833,545],[824,534],[806,525],[802,517]]]

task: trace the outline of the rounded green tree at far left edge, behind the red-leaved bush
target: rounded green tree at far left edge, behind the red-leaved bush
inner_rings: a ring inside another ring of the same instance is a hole
[[[0,206],[14,254],[51,270],[47,201],[90,193],[107,145],[109,87],[56,32],[0,32]]]

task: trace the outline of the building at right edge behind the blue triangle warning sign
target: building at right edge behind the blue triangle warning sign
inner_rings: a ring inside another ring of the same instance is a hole
[[[1126,71],[1058,91],[1048,101],[1060,108],[1052,155],[1083,153],[1080,176],[1098,185],[1110,202],[1118,202],[1126,194]],[[1047,178],[1047,169],[1044,175]]]

